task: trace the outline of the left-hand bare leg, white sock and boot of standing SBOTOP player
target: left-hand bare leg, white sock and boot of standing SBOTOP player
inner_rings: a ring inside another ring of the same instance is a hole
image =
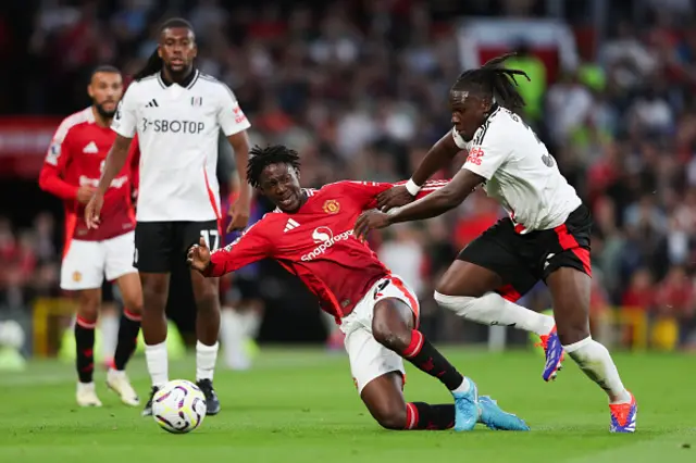
[[[142,285],[142,337],[145,358],[152,381],[150,399],[142,410],[144,416],[152,414],[152,396],[169,381],[166,354],[166,297],[170,289],[169,273],[140,273]]]

